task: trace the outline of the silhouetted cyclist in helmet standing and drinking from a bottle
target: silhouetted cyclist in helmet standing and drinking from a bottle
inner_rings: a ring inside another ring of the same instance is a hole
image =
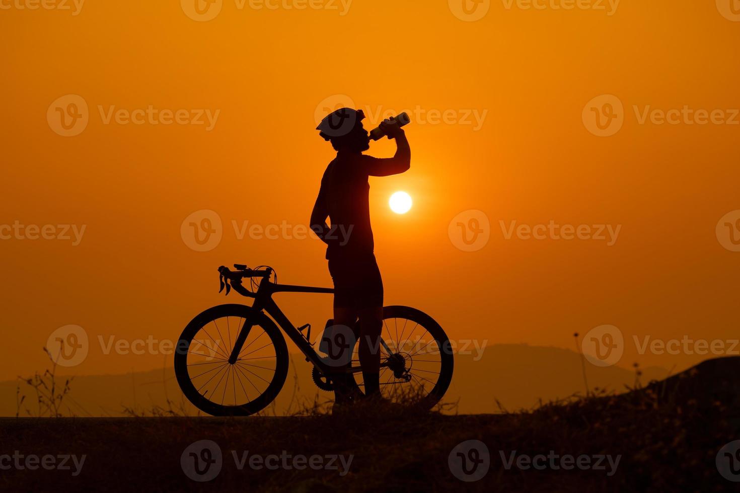
[[[326,243],[326,259],[334,281],[334,324],[351,327],[360,319],[360,365],[365,394],[380,395],[379,338],[383,328],[383,279],[374,255],[370,227],[368,177],[399,174],[411,166],[411,148],[406,132],[391,120],[380,124],[388,138],[396,140],[394,157],[366,156],[369,134],[363,128],[361,110],[337,109],[324,118],[317,130],[329,140],[337,157],[329,163],[321,179],[311,228]],[[326,224],[329,217],[332,227]],[[338,376],[337,402],[346,401],[346,386]]]

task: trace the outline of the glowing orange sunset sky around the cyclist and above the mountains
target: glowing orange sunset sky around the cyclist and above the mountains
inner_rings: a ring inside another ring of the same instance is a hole
[[[43,369],[41,347],[67,324],[91,340],[73,373],[171,364],[157,352],[105,354],[98,336],[177,339],[201,310],[238,302],[218,295],[218,265],[267,264],[281,282],[329,285],[317,240],[238,239],[233,222],[306,225],[333,156],[314,131],[317,107],[336,95],[365,109],[367,126],[385,112],[412,119],[411,170],[371,178],[387,304],[419,307],[451,339],[488,344],[574,349],[574,332],[612,324],[626,341],[625,367],[680,370],[707,357],[640,355],[634,336],[740,337],[740,253],[716,234],[740,209],[740,117],[727,124],[740,108],[740,22],[714,1],[622,0],[612,12],[608,1],[598,2],[607,10],[491,1],[477,21],[443,0],[354,0],[346,11],[338,0],[304,10],[286,8],[296,0],[270,3],[275,10],[224,0],[210,21],[189,18],[177,0],[90,0],[77,15],[71,1],[72,11],[19,8],[24,1],[0,0],[0,224],[85,229],[78,245],[0,240],[0,379]],[[47,120],[64,95],[88,106],[73,137]],[[583,120],[600,95],[623,105],[623,126],[609,137]],[[211,129],[107,120],[111,107],[149,106],[165,120],[162,110],[218,117]],[[647,106],[721,109],[724,119],[641,123]],[[369,153],[393,149],[383,140]],[[397,190],[414,199],[403,216],[388,210]],[[223,231],[198,252],[181,223],[203,209]],[[472,252],[448,234],[468,210],[490,222],[488,243]],[[551,220],[621,228],[608,246],[506,239],[499,222],[508,231],[512,221]],[[326,296],[279,301],[296,324],[323,327],[331,313]]]

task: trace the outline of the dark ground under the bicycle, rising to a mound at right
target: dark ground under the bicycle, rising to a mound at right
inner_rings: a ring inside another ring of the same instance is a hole
[[[300,418],[2,418],[2,451],[19,460],[0,488],[736,491],[739,370],[740,358],[718,358],[622,395],[499,415],[355,405]],[[71,457],[70,469],[25,467],[34,454]]]

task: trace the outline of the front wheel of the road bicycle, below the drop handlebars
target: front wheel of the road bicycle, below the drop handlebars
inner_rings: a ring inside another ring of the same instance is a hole
[[[235,364],[229,356],[244,323],[254,324]],[[288,347],[275,323],[246,305],[209,308],[187,324],[175,350],[175,376],[188,400],[214,416],[246,416],[277,396]]]

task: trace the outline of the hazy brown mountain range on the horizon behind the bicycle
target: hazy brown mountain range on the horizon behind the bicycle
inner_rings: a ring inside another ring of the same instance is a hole
[[[635,372],[622,367],[595,367],[586,363],[588,386],[624,392],[633,386]],[[668,371],[658,367],[642,369],[640,381],[662,380]],[[58,378],[62,379],[62,378]],[[62,379],[63,381],[63,379]],[[16,415],[16,389],[26,395],[25,405],[33,409],[35,391],[24,382],[0,382],[0,415]],[[172,367],[121,375],[78,375],[70,384],[71,392],[64,399],[64,414],[81,416],[120,416],[124,407],[145,412],[152,406],[175,407],[195,414],[197,409],[184,401]],[[582,357],[558,347],[538,347],[527,344],[496,344],[486,347],[478,361],[471,355],[455,355],[452,384],[445,401],[457,401],[460,414],[499,412],[497,401],[509,411],[529,409],[539,400],[551,401],[584,393]],[[291,356],[291,368],[283,391],[275,400],[272,412],[277,415],[295,410],[302,402],[332,398],[329,392],[318,390],[311,378],[311,365],[303,355]]]

